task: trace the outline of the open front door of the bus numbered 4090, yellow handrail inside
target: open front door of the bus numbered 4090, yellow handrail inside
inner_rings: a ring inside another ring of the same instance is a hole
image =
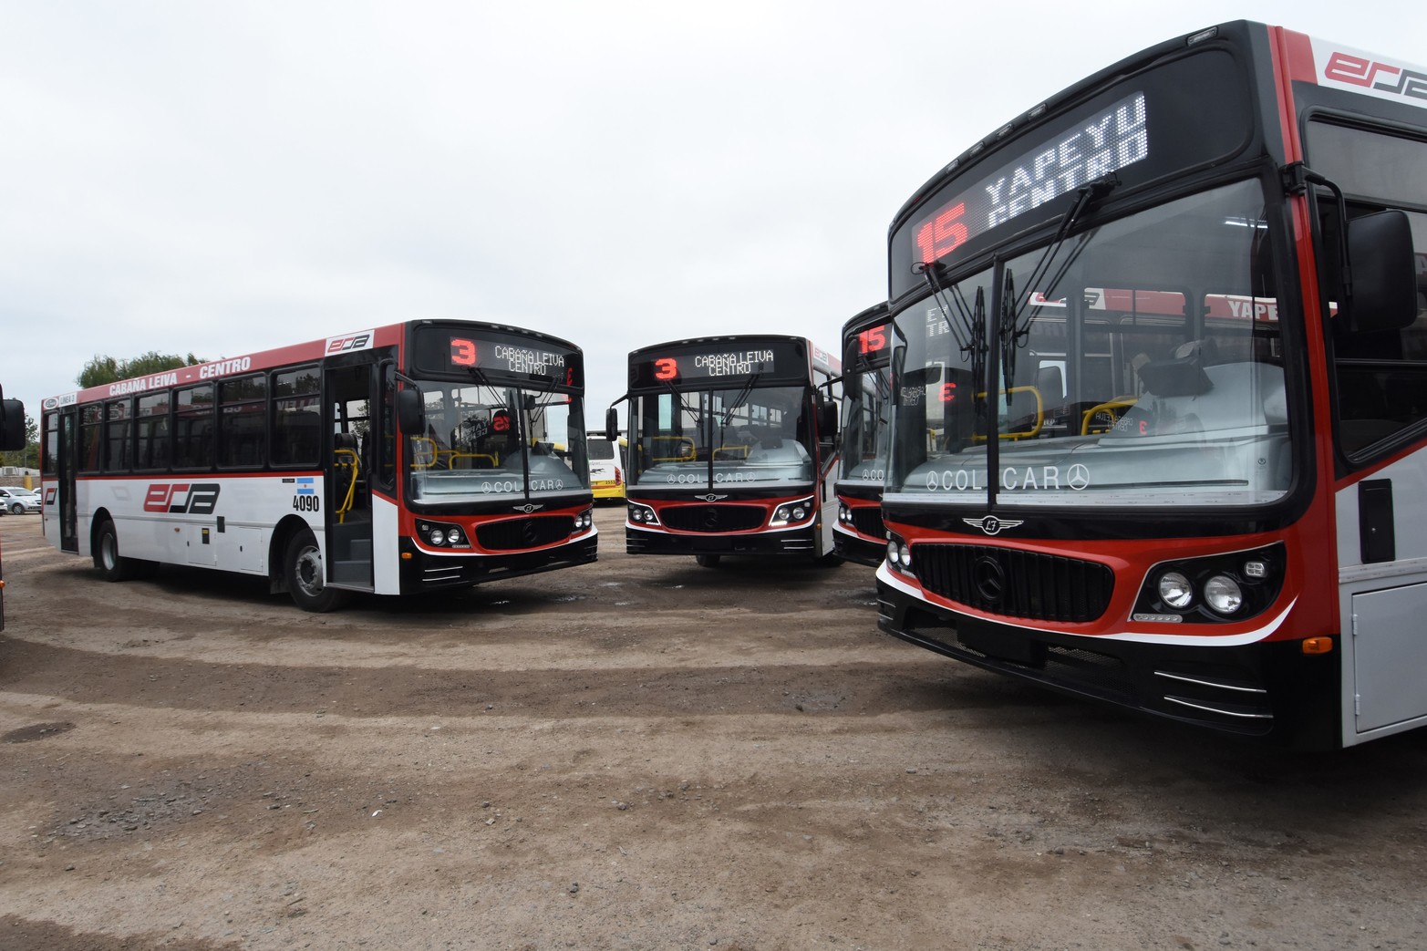
[[[327,580],[344,588],[372,590],[371,463],[377,456],[377,367],[331,366],[324,371],[323,460],[327,485]]]

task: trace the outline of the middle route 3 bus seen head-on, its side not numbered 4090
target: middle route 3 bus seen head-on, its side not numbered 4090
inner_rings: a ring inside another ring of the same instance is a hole
[[[801,337],[679,340],[629,354],[625,548],[832,563],[838,358]],[[606,430],[618,436],[615,410]]]

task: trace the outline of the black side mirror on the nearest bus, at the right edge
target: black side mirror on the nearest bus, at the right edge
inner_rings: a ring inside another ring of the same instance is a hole
[[[1374,211],[1347,223],[1353,291],[1350,333],[1401,330],[1417,320],[1417,260],[1403,211]]]

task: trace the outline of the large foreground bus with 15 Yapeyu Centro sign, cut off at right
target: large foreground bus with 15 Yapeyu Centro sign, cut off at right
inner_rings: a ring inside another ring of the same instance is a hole
[[[1301,747],[1427,724],[1427,73],[1226,23],[889,234],[882,630]]]

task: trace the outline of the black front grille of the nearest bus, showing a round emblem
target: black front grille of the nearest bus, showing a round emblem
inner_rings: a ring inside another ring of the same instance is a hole
[[[932,594],[1003,617],[1093,621],[1114,591],[1099,561],[995,545],[919,544],[912,564]]]

